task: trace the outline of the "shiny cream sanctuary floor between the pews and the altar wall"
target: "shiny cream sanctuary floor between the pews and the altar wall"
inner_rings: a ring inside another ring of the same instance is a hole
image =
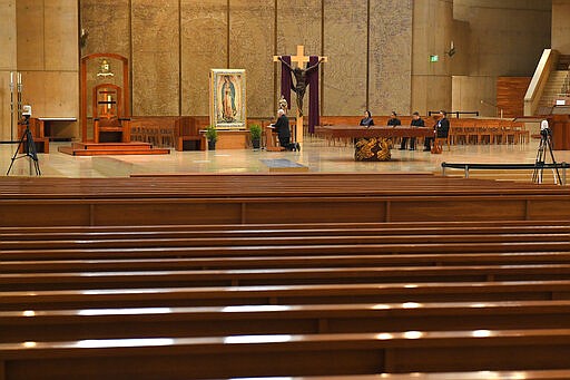
[[[72,157],[58,152],[51,143],[50,154],[39,154],[47,177],[128,177],[132,174],[185,173],[268,173],[262,159],[285,158],[308,167],[309,172],[376,172],[441,173],[441,163],[534,163],[538,140],[522,145],[452,146],[442,155],[422,150],[392,150],[385,163],[354,162],[351,146],[327,146],[320,139],[308,139],[302,152],[271,153],[265,150],[176,152],[161,156]],[[4,176],[14,146],[0,145],[0,175]],[[556,152],[558,162],[570,162],[570,152]],[[30,175],[29,158],[18,159],[10,175]],[[500,175],[499,175],[500,176]],[[528,174],[524,178],[529,177]]]

